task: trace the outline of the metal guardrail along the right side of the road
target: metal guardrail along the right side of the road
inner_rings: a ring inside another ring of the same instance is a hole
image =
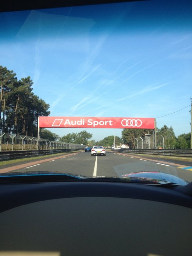
[[[165,155],[165,156],[184,156],[192,157],[192,149],[111,149],[111,151],[117,151],[129,154],[153,154],[153,155]]]

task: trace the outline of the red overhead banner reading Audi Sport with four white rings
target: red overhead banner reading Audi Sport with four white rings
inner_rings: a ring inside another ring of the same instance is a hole
[[[154,118],[143,117],[39,117],[40,128],[154,129]]]

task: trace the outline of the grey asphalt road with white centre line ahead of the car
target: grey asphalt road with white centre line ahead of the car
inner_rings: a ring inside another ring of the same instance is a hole
[[[120,176],[132,172],[158,171],[192,182],[192,169],[181,169],[169,163],[162,164],[114,152],[107,152],[106,156],[79,152],[38,165],[32,162],[30,166],[15,171],[64,171],[83,176]]]

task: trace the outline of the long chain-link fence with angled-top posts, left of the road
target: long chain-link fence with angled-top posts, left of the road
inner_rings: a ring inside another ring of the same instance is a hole
[[[41,150],[41,149],[82,149],[83,145],[50,141],[20,134],[0,134],[0,151],[4,150]]]

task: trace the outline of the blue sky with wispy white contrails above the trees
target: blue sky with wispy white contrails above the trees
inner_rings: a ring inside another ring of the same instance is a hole
[[[18,79],[31,76],[51,116],[156,118],[175,112],[192,97],[192,5],[170,2],[2,13],[0,65]],[[189,110],[157,118],[157,126],[188,133]],[[60,136],[81,131],[50,130]],[[95,140],[114,132],[87,131]]]

